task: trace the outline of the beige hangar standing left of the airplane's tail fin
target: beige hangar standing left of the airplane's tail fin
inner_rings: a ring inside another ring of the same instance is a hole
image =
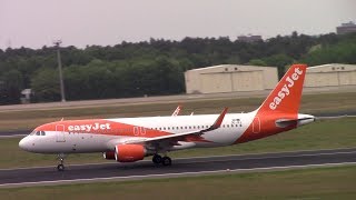
[[[221,64],[185,72],[187,93],[218,93],[274,89],[275,67]]]

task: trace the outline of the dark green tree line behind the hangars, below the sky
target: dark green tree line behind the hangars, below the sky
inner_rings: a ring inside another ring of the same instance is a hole
[[[186,70],[215,64],[271,66],[280,77],[294,62],[356,63],[356,34],[293,32],[257,42],[187,37],[60,51],[67,99],[107,99],[184,93]],[[0,104],[19,103],[26,88],[33,101],[60,100],[56,56],[55,47],[0,50]]]

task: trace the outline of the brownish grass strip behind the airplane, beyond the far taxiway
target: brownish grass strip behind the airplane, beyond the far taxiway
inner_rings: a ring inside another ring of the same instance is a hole
[[[169,116],[177,104],[182,104],[182,114],[218,113],[224,107],[229,112],[251,111],[265,98],[189,100],[182,102],[160,102],[144,104],[89,106],[86,108],[53,108],[47,110],[2,111],[0,131],[31,130],[39,124],[65,119],[118,118],[140,116]],[[356,112],[356,92],[306,94],[303,97],[300,112]]]

